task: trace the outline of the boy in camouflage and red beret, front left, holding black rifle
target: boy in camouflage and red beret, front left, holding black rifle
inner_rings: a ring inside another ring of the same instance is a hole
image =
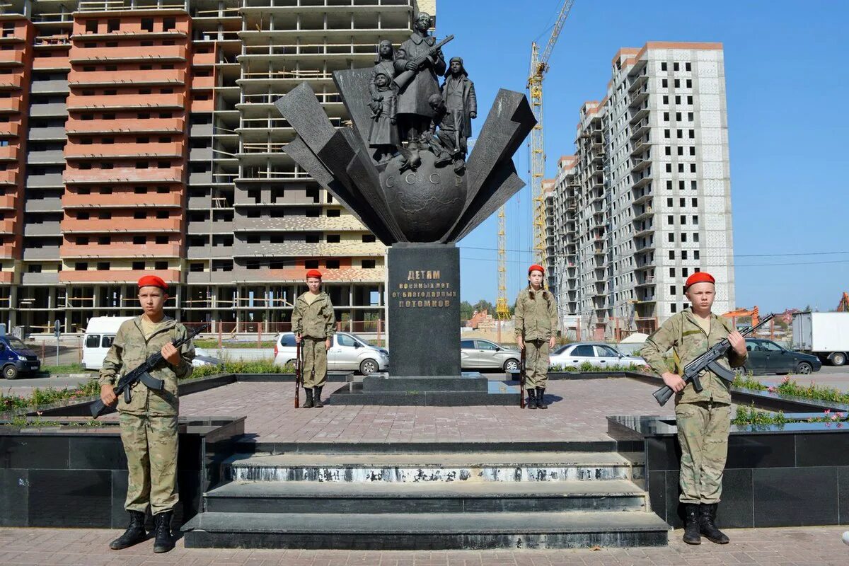
[[[167,289],[160,277],[147,275],[138,280],[138,300],[144,313],[121,324],[100,370],[101,401],[107,406],[118,403],[129,471],[124,507],[130,513],[130,524],[110,543],[114,550],[147,539],[144,514],[148,506],[156,525],[154,552],[168,552],[174,547],[171,517],[177,504],[177,380],[192,373],[194,345],[189,341],[177,350],[171,344],[185,337],[186,328],[162,311]],[[129,403],[123,395],[117,399],[117,379],[156,352],[161,352],[165,360],[150,375],[162,379],[165,388],[155,391],[139,382],[132,388]]]

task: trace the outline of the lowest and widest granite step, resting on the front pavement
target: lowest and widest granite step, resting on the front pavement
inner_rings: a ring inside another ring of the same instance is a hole
[[[655,513],[200,513],[187,548],[442,550],[665,546]]]

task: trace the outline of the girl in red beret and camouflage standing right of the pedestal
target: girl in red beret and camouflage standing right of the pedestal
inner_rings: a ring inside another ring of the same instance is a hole
[[[554,295],[543,289],[543,275],[543,266],[528,268],[528,286],[519,292],[514,311],[516,344],[525,350],[525,386],[531,409],[548,409],[548,352],[557,335],[557,305]]]

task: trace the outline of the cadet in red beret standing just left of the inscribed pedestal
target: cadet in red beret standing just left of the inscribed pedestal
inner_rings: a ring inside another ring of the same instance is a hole
[[[292,311],[292,332],[301,344],[304,356],[303,376],[306,403],[304,408],[324,406],[321,389],[327,381],[327,350],[333,343],[336,315],[328,294],[321,290],[321,272],[306,272],[306,293],[295,300]]]

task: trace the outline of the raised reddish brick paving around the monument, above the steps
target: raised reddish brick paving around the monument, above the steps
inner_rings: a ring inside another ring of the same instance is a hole
[[[324,391],[339,387],[328,384]],[[655,386],[629,378],[549,381],[547,411],[519,406],[295,409],[294,389],[291,383],[236,383],[184,396],[180,414],[245,415],[245,433],[267,442],[610,440],[609,415],[674,414],[672,402],[661,407],[651,396]]]

